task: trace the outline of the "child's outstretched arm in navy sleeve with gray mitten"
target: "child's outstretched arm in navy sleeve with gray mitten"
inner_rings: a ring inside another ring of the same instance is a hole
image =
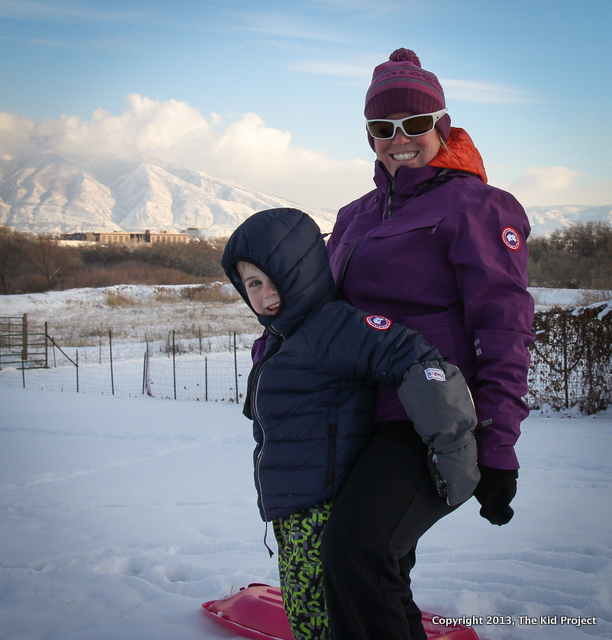
[[[429,449],[438,494],[450,505],[467,500],[480,473],[476,411],[459,369],[418,331],[344,303],[327,305],[308,329],[310,348],[326,370],[399,387],[406,413]]]

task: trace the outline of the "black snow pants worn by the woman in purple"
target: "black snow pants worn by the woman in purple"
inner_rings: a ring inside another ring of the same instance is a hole
[[[410,571],[419,538],[449,507],[409,421],[382,425],[351,470],[322,540],[333,640],[426,640]]]

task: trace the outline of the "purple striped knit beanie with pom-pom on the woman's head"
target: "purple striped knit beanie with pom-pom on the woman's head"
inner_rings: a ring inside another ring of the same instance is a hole
[[[438,78],[421,69],[421,61],[410,49],[396,49],[389,62],[374,69],[372,84],[366,94],[366,120],[388,118],[393,113],[433,113],[446,107],[444,91]],[[436,122],[436,129],[446,142],[450,134],[450,116]],[[368,134],[370,145],[374,140]]]

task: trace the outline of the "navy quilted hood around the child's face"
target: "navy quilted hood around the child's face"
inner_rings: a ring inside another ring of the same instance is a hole
[[[278,313],[256,315],[261,325],[282,336],[291,335],[311,311],[334,298],[334,280],[321,230],[298,209],[268,209],[253,214],[225,246],[223,270],[253,309],[238,272],[241,261],[261,269],[276,287],[281,299]]]

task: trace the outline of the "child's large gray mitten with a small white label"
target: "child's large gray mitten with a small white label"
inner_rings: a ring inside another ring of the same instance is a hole
[[[476,411],[459,369],[443,360],[412,365],[399,398],[417,433],[429,448],[429,468],[440,497],[449,505],[465,502],[480,479]]]

